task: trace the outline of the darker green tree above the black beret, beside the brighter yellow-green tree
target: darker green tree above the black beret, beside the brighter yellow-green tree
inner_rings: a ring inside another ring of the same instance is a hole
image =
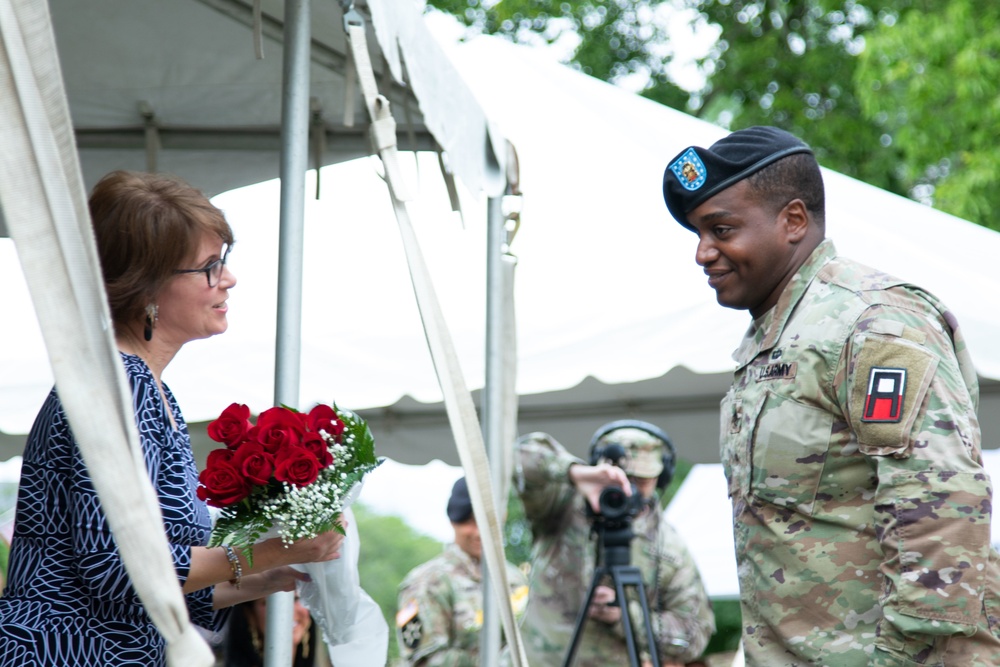
[[[893,2],[872,9],[853,0],[689,1],[722,26],[714,71],[699,91],[703,117],[731,113],[732,127],[784,128],[824,166],[905,194],[899,152],[862,114],[853,88],[865,36],[891,16]]]

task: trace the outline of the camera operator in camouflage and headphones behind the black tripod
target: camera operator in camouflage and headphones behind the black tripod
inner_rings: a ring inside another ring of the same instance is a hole
[[[698,658],[715,620],[691,554],[660,511],[657,492],[674,466],[667,435],[646,422],[611,422],[594,434],[589,465],[547,433],[521,437],[515,450],[514,483],[534,541],[531,599],[521,624],[529,663],[563,663],[602,546],[594,528],[602,521],[602,492],[609,490],[605,501],[626,496],[630,532],[624,548],[642,576],[661,667]],[[595,590],[574,665],[628,664],[623,611],[611,584],[608,579]],[[628,608],[633,626],[642,628],[638,600]],[[643,665],[651,664],[645,634],[637,632],[636,640]]]

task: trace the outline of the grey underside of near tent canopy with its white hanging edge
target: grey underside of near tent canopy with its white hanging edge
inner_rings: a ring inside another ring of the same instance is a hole
[[[253,4],[246,0],[50,4],[88,188],[120,168],[175,173],[210,196],[278,176],[283,2],[261,3],[263,59],[255,56]],[[359,3],[358,10],[370,28],[372,63],[399,124],[400,147],[443,146],[473,191],[484,176],[495,180],[499,140],[487,136],[485,115],[418,10],[386,0]],[[372,151],[340,3],[316,1],[311,12],[316,166]],[[461,129],[445,129],[455,127]]]

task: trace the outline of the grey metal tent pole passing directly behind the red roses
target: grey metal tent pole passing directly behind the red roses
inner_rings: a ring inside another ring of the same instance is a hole
[[[309,0],[285,1],[281,78],[281,213],[274,403],[299,407],[302,343],[302,246],[309,156]],[[292,664],[295,594],[267,601],[264,664]]]

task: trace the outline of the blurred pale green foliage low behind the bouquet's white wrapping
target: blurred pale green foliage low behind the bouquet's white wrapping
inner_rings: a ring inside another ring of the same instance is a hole
[[[393,664],[399,658],[396,591],[410,570],[441,553],[443,545],[417,533],[399,517],[375,514],[360,504],[352,510],[361,535],[361,587],[378,603],[389,624],[389,663]]]

